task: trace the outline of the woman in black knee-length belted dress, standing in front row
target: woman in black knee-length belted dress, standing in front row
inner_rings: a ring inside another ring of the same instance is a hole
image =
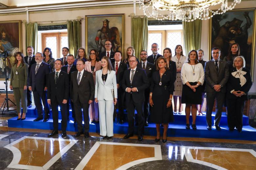
[[[172,95],[174,83],[172,72],[167,66],[165,58],[160,57],[156,61],[156,72],[152,75],[149,93],[149,104],[151,109],[151,120],[156,124],[156,142],[160,140],[160,124],[163,124],[162,142],[167,141],[167,129],[169,122],[173,121]]]

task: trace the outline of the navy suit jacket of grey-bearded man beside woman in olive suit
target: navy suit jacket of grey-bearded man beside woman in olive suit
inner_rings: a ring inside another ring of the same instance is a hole
[[[36,64],[31,66],[29,74],[29,87],[32,87],[32,91],[43,92],[44,88],[47,87],[48,75],[50,73],[50,65],[42,62],[39,66],[37,73],[35,74]]]

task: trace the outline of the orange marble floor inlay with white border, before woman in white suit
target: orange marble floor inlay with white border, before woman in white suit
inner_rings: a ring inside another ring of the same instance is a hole
[[[160,145],[96,142],[75,170],[124,170],[161,159]]]

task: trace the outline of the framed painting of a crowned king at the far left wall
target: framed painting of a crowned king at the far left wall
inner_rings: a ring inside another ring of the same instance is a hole
[[[14,54],[22,48],[21,44],[21,20],[0,21],[0,79],[11,77],[11,66],[15,61]],[[2,53],[6,51],[5,59]]]

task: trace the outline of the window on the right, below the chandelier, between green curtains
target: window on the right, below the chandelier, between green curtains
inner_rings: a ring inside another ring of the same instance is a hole
[[[183,45],[182,25],[149,25],[148,26],[148,54],[152,54],[151,45],[156,42],[159,46],[159,53],[163,54],[163,49],[169,47],[172,50],[172,56],[175,54],[175,46]]]

